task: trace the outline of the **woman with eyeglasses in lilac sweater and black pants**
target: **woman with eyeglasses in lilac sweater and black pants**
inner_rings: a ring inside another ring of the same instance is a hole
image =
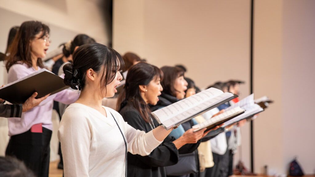
[[[41,58],[49,48],[49,27],[39,21],[22,23],[6,58],[8,82],[14,82],[44,68]],[[79,94],[63,90],[50,95],[33,109],[23,112],[21,118],[8,118],[9,144],[6,156],[22,160],[37,176],[48,177],[49,144],[52,134],[53,100],[71,104]]]

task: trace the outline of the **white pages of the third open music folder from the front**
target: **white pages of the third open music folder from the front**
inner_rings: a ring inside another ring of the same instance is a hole
[[[241,114],[241,115],[239,115],[237,117],[234,117],[234,118],[232,118],[229,121],[226,121],[222,127],[226,127],[228,125],[236,123],[236,122],[242,120],[245,117],[248,117],[248,116],[253,115],[253,114],[257,114],[258,112],[261,112],[261,111],[264,110],[259,105],[255,104],[255,103],[252,104],[252,105],[244,106],[243,109],[246,110],[243,114]]]

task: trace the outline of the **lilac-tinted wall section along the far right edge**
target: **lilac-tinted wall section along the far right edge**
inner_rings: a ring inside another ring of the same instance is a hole
[[[283,3],[282,114],[284,165],[296,156],[315,174],[315,1]]]

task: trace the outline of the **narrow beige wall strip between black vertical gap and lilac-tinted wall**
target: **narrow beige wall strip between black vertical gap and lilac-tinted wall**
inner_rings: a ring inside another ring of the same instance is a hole
[[[256,0],[254,24],[254,93],[275,103],[254,120],[254,169],[284,173],[282,99],[282,1]]]

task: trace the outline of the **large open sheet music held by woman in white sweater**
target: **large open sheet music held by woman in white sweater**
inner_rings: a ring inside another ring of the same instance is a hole
[[[236,97],[235,94],[209,88],[151,114],[164,128],[170,129]]]

